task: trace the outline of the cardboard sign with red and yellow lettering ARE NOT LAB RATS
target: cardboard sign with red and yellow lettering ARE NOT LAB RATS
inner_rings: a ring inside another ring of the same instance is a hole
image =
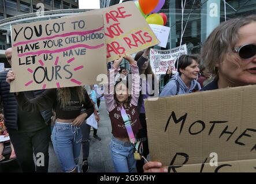
[[[107,61],[142,51],[159,43],[135,3],[124,2],[80,15],[102,14],[105,27]]]

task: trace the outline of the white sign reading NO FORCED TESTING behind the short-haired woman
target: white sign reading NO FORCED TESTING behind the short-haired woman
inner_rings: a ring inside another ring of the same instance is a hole
[[[180,48],[180,49],[179,49]],[[169,65],[172,66],[172,73],[176,74],[177,69],[175,68],[175,62],[177,57],[180,55],[187,54],[187,45],[181,45],[181,47],[176,47],[168,50],[158,50],[150,49],[150,64],[155,74],[165,74],[168,70]],[[154,61],[157,56],[160,56],[159,66],[154,66]]]

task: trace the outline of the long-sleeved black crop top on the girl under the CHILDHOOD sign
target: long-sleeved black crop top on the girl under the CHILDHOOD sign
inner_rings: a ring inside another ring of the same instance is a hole
[[[76,94],[75,88],[70,87],[71,90],[71,101],[69,105],[61,107],[61,102],[57,97],[57,89],[47,89],[42,94],[34,99],[28,99],[24,93],[18,93],[16,100],[21,110],[27,112],[33,112],[35,110],[46,110],[53,108],[56,112],[56,117],[62,120],[71,120],[80,115],[81,109],[88,114],[87,117],[91,116],[94,112],[94,106],[92,105],[90,98],[85,90],[85,102],[80,104],[79,97]]]

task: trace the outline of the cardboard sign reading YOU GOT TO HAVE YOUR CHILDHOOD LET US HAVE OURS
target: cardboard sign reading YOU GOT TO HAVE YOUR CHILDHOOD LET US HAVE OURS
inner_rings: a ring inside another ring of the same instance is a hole
[[[92,85],[107,74],[101,15],[13,25],[10,91]]]

